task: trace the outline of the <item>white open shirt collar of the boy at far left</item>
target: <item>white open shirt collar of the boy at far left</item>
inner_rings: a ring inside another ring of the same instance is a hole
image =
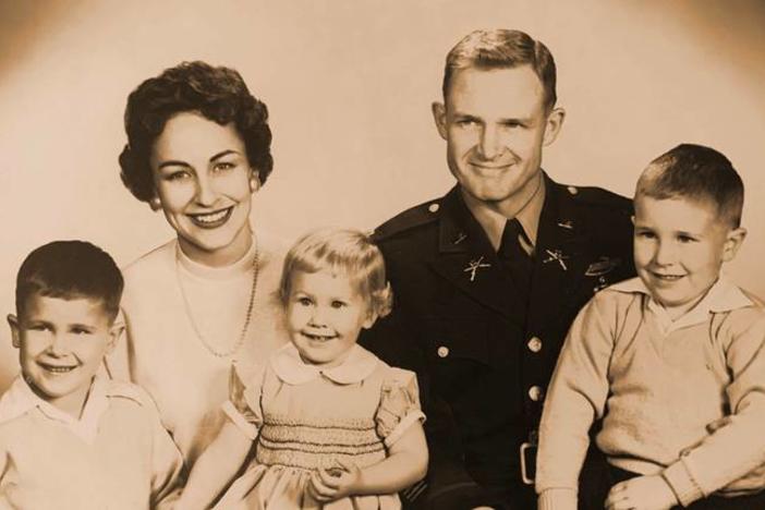
[[[37,409],[48,420],[62,424],[85,441],[93,442],[98,432],[98,422],[109,406],[107,393],[107,381],[95,377],[82,416],[75,418],[40,399],[24,377],[19,376],[0,400],[0,422],[16,418]]]

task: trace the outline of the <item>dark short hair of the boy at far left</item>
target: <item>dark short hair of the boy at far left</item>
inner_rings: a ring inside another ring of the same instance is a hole
[[[26,256],[16,277],[16,313],[35,294],[99,300],[109,321],[120,309],[124,281],[108,253],[85,241],[53,241]]]

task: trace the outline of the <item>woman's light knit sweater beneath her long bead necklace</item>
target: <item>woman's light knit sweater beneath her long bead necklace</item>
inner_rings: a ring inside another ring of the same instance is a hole
[[[254,248],[231,266],[211,268],[189,259],[173,240],[124,269],[126,336],[107,367],[151,394],[190,465],[223,423],[219,408],[228,398],[232,363],[246,373],[288,340],[277,296],[284,251],[262,233],[257,240],[251,323],[232,355],[214,355],[196,330],[218,352],[235,344],[250,302]]]

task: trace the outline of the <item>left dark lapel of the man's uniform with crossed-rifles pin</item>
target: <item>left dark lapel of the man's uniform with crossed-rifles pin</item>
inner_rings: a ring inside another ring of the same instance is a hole
[[[439,251],[433,269],[473,300],[523,325],[525,306],[483,228],[462,202],[459,187],[452,189],[441,205]]]

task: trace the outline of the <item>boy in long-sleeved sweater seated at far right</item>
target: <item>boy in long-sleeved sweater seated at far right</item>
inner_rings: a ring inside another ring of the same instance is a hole
[[[745,235],[742,204],[708,147],[680,145],[640,177],[640,278],[597,293],[569,331],[539,430],[539,509],[576,508],[599,418],[611,477],[599,508],[765,508],[763,494],[713,495],[765,461],[765,309],[720,276]]]

